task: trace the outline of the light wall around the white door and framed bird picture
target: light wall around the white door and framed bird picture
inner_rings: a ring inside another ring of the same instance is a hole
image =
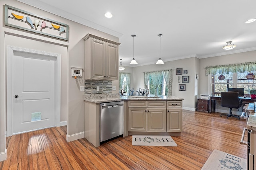
[[[21,10],[31,12],[51,20],[66,23],[70,27],[68,41],[23,31],[4,25],[4,5],[10,5]],[[65,18],[50,14],[38,8],[28,6],[16,0],[1,0],[0,13],[0,160],[5,152],[5,120],[6,120],[6,47],[14,45],[28,49],[38,49],[54,53],[61,53],[61,121],[68,121],[68,135],[84,131],[84,93],[79,86],[84,81],[76,81],[71,76],[72,67],[84,68],[84,41],[82,37],[91,33],[99,37],[119,42],[118,37],[103,33],[96,29],[86,27]],[[116,83],[116,82],[114,82]],[[118,91],[117,91],[118,92]]]

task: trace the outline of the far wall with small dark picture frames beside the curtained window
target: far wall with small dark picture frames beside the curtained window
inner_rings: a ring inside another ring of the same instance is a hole
[[[144,88],[143,72],[173,69],[172,96],[184,98],[184,101],[183,101],[184,109],[195,110],[195,98],[197,100],[197,96],[196,96],[197,91],[195,91],[195,84],[197,81],[196,72],[198,71],[198,62],[199,60],[197,58],[191,57],[188,59],[165,62],[163,65],[150,64],[146,66],[134,67],[133,88],[134,89]],[[182,68],[183,70],[188,70],[188,74],[182,73],[182,75],[176,75],[176,68]],[[181,78],[180,83],[178,83],[178,76],[180,76]],[[182,76],[189,76],[189,82],[182,83]],[[178,90],[179,84],[186,84],[186,91],[179,91]]]

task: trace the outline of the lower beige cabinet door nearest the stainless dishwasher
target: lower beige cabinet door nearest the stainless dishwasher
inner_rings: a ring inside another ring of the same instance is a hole
[[[147,110],[146,108],[128,109],[128,131],[147,131]]]

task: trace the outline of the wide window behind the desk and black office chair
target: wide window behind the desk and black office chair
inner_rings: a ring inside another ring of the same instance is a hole
[[[211,94],[220,95],[220,92],[226,92],[227,88],[244,88],[244,95],[249,95],[250,90],[256,89],[256,79],[249,80],[246,75],[249,72],[245,71],[243,73],[229,72],[224,74],[211,74]],[[255,71],[252,71],[255,74]]]

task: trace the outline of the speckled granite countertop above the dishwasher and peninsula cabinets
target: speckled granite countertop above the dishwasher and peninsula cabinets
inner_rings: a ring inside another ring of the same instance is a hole
[[[125,100],[184,100],[175,96],[120,96],[119,94],[85,94],[84,101],[92,103],[118,102]]]

